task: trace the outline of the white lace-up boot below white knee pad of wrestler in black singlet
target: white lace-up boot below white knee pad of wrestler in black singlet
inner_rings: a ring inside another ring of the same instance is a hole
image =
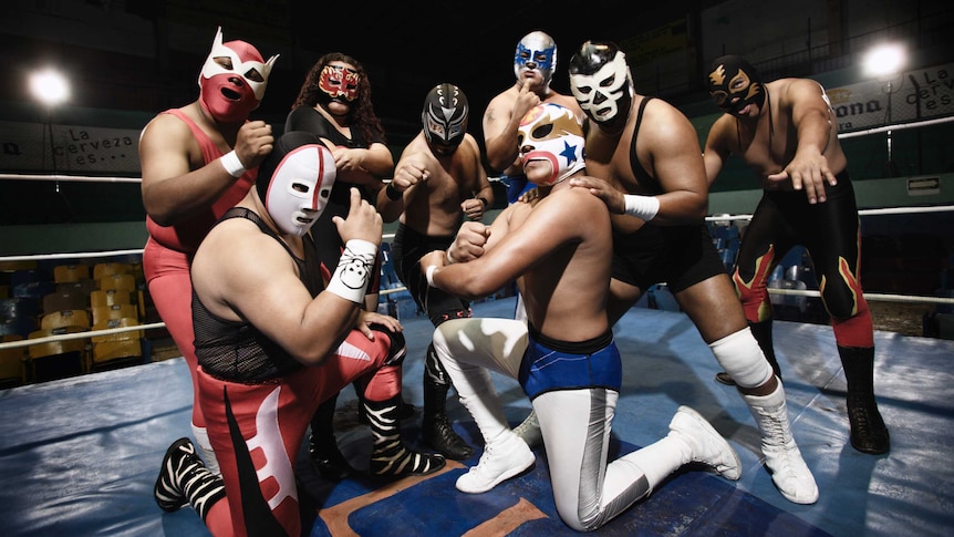
[[[742,394],[742,397],[761,431],[761,453],[778,492],[795,504],[816,503],[818,485],[791,435],[781,381],[768,395]]]

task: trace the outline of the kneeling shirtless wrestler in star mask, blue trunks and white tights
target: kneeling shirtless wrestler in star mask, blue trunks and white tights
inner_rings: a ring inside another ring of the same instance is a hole
[[[422,259],[427,280],[438,289],[478,298],[516,280],[527,304],[529,324],[454,319],[434,332],[434,349],[485,441],[479,464],[457,479],[457,489],[490,490],[535,462],[508,427],[488,370],[519,380],[530,397],[557,512],[575,530],[602,527],[689,462],[737,479],[736,453],[685,406],[667,436],[608,459],[622,382],[605,312],[610,215],[601,200],[568,180],[585,172],[583,132],[571,111],[556,104],[531,109],[520,122],[518,141],[523,169],[540,187],[540,197],[510,205],[489,228],[465,224],[487,237],[481,256],[449,265],[445,251]]]

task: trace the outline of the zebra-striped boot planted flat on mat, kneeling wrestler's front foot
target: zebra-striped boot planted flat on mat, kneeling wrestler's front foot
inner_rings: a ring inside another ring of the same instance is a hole
[[[401,440],[397,419],[401,395],[387,401],[364,402],[374,437],[369,472],[374,477],[396,479],[408,475],[427,475],[443,468],[447,462],[440,455],[418,453],[407,448]]]

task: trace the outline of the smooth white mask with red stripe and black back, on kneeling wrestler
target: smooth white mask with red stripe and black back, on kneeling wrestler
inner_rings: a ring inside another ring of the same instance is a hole
[[[311,133],[282,134],[258,168],[256,188],[283,234],[307,234],[331,197],[338,169],[331,151]]]

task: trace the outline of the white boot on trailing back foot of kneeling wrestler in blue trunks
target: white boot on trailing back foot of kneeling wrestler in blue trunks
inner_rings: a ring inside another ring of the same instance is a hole
[[[670,422],[668,436],[675,435],[692,450],[692,462],[711,466],[726,479],[737,481],[742,476],[738,454],[712,424],[698,412],[680,406]]]

